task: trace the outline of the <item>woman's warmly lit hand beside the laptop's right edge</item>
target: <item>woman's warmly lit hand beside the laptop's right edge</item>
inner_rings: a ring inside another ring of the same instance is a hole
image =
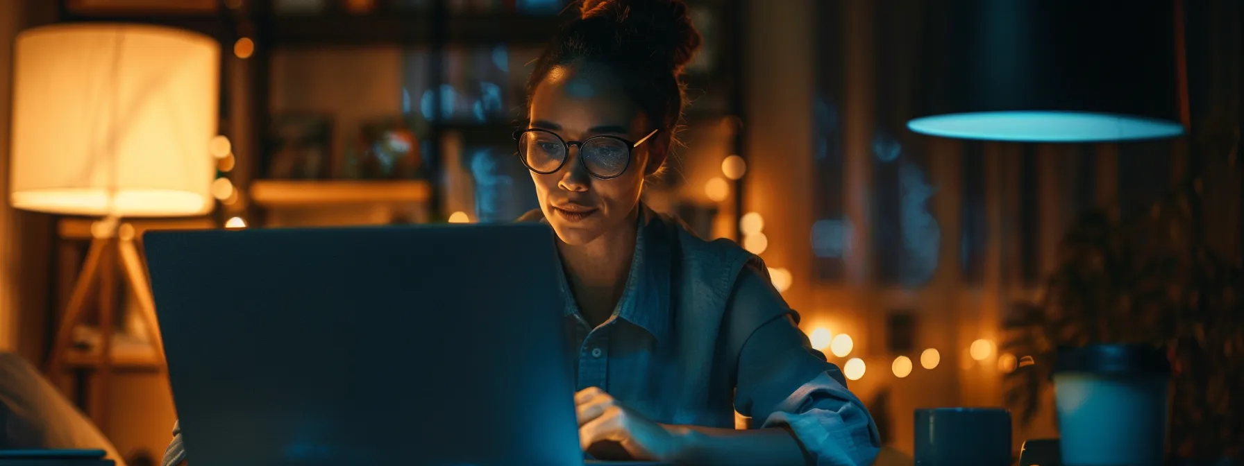
[[[616,441],[636,460],[669,461],[677,456],[678,435],[618,404],[596,386],[575,394],[578,442],[587,451],[596,442]]]

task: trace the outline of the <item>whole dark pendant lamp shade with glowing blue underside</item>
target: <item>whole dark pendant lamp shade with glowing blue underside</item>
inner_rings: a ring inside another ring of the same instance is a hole
[[[1013,142],[1178,137],[1173,1],[934,2],[908,128]]]

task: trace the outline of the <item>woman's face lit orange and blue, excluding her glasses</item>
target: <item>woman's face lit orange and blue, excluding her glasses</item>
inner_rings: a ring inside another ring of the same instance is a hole
[[[591,63],[555,67],[531,96],[531,128],[547,129],[566,142],[615,135],[638,142],[652,128],[626,96],[622,83],[603,67]],[[622,175],[592,178],[571,147],[566,163],[551,174],[532,171],[540,210],[564,242],[586,245],[628,222],[639,203],[648,170],[652,140],[632,152]],[[658,162],[659,163],[659,162]]]

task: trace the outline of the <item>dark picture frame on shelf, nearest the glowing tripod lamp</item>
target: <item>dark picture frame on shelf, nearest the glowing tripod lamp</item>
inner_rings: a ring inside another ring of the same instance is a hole
[[[262,173],[269,179],[328,179],[333,175],[331,117],[284,113],[272,117]]]

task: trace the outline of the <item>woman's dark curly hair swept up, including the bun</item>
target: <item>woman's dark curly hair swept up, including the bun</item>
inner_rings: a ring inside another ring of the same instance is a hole
[[[674,140],[687,98],[683,68],[700,46],[682,0],[582,0],[536,60],[527,94],[557,66],[592,62],[610,68],[661,133],[662,155]],[[529,102],[530,103],[530,102]],[[653,168],[654,169],[654,168]]]

